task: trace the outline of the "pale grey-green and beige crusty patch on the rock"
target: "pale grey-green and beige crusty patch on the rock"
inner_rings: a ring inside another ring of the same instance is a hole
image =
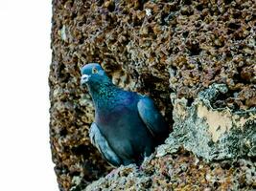
[[[184,147],[207,161],[256,158],[256,109],[213,109],[212,102],[226,92],[224,84],[211,85],[191,106],[173,94],[174,132],[157,148],[157,157]]]

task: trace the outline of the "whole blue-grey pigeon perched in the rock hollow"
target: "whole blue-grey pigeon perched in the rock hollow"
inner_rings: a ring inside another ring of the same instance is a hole
[[[169,127],[149,96],[114,85],[99,63],[81,68],[95,107],[89,137],[112,166],[139,165],[169,136]]]

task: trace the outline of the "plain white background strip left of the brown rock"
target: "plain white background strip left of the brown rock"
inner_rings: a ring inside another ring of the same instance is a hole
[[[49,143],[51,1],[0,0],[0,190],[58,191]]]

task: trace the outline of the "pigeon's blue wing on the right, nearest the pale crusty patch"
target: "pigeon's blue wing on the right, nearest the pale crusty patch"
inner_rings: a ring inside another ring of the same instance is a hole
[[[162,115],[155,108],[153,101],[148,96],[142,96],[137,104],[139,116],[146,124],[153,138],[167,138],[169,135],[168,125]]]

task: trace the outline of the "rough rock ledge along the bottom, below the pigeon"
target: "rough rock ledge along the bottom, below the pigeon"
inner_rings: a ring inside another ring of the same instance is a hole
[[[256,189],[255,165],[244,159],[205,163],[192,153],[179,150],[178,154],[161,158],[151,156],[141,169],[135,165],[121,166],[83,191],[253,190]]]

